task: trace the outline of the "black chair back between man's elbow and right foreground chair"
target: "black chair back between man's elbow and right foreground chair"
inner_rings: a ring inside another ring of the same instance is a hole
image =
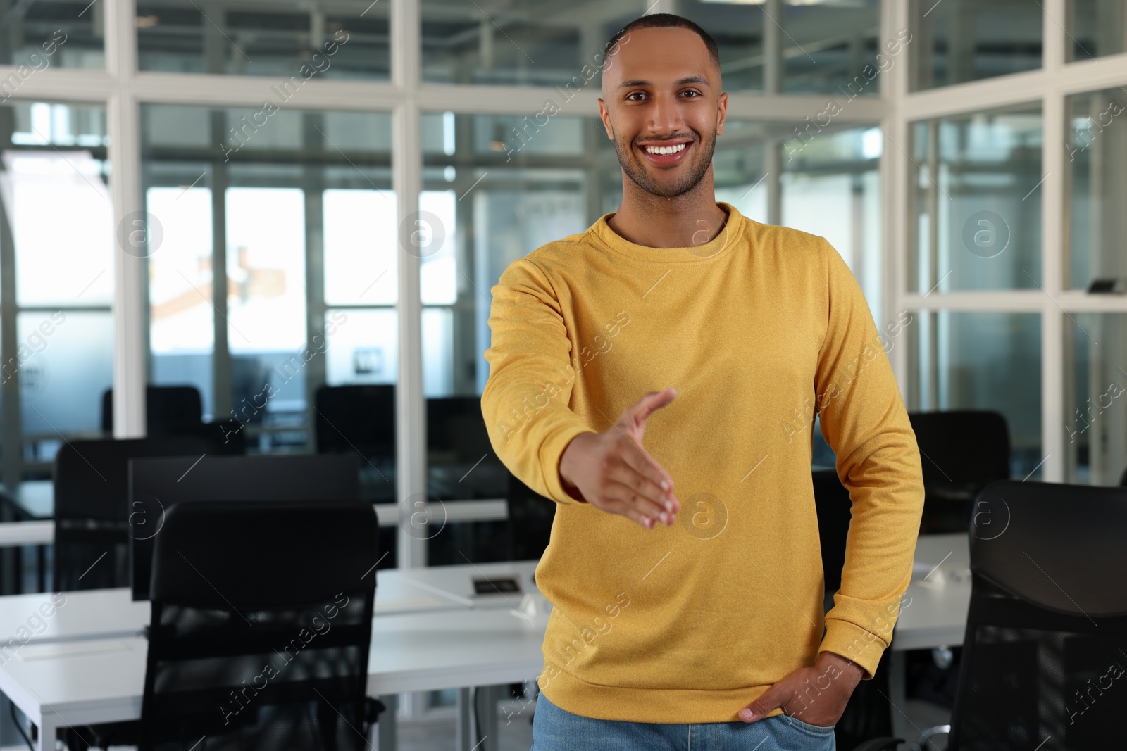
[[[1010,476],[1010,433],[1000,412],[911,412],[924,507],[920,534],[966,531],[983,488]]]

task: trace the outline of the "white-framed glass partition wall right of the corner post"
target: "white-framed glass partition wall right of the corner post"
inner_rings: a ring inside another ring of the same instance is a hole
[[[895,14],[914,54],[884,207],[906,250],[895,295],[912,322],[891,357],[909,410],[1002,413],[1014,479],[1119,484],[1121,3],[922,0]]]

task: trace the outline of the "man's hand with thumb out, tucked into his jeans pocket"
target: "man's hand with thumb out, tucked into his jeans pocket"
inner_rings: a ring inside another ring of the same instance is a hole
[[[808,725],[828,727],[841,719],[853,689],[861,682],[863,669],[832,652],[822,652],[813,668],[799,668],[780,679],[763,695],[739,710],[746,723],[758,722],[774,709],[797,717]]]

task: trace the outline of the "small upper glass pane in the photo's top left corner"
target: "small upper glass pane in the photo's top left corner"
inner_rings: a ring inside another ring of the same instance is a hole
[[[0,99],[50,68],[106,66],[105,3],[7,2],[2,14],[0,65],[16,70],[0,79]]]

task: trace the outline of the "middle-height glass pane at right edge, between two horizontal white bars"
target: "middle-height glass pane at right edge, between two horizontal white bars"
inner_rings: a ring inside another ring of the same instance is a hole
[[[1065,99],[1068,118],[1067,285],[1127,277],[1127,93],[1107,89]]]

